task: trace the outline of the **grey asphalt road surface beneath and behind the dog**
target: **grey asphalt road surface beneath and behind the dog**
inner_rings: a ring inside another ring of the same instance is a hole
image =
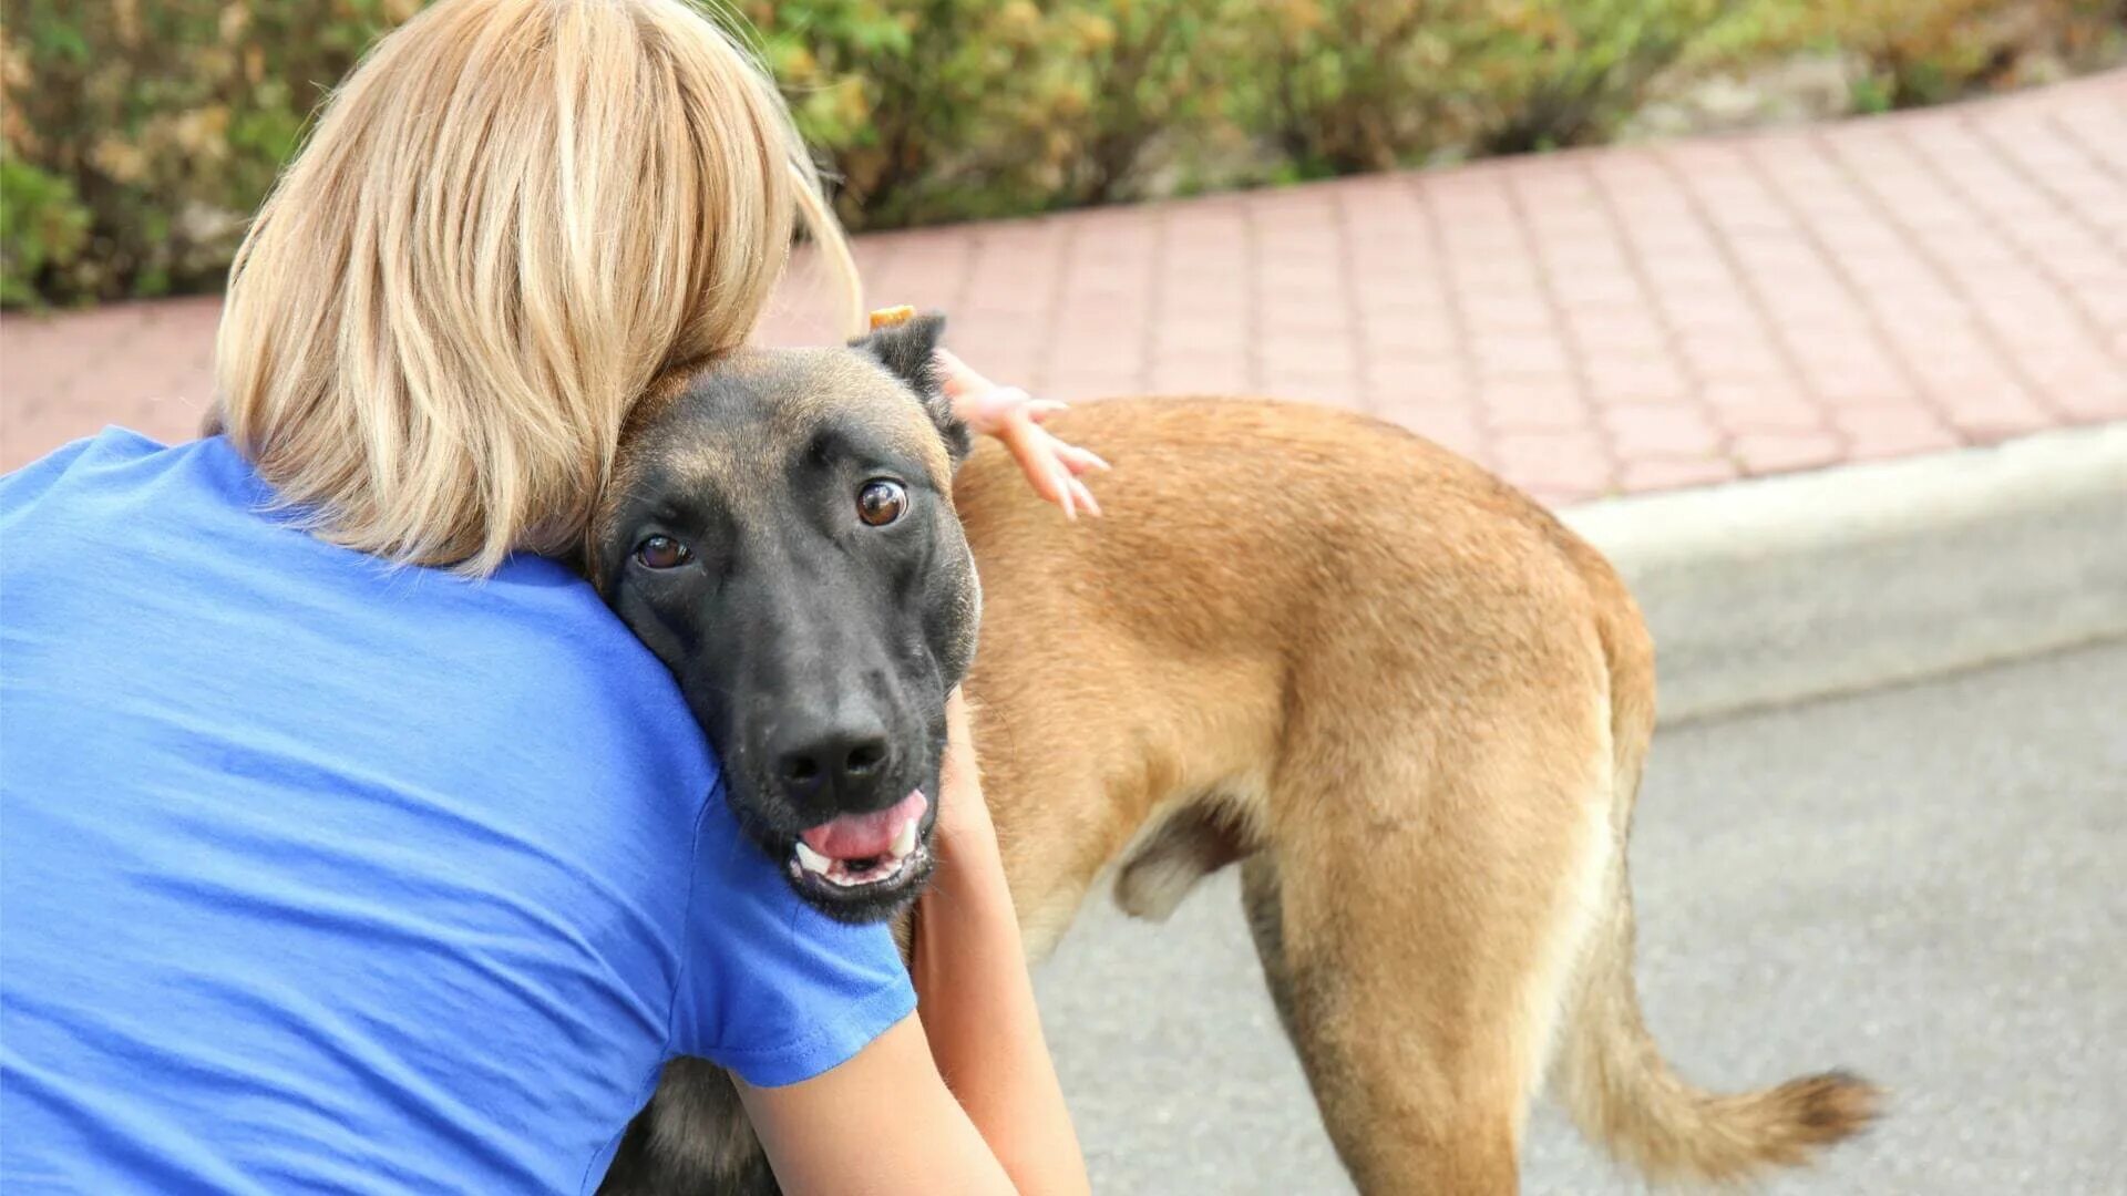
[[[1893,1090],[1761,1192],[2127,1192],[2127,645],[1665,732],[1631,851],[1687,1077]],[[1229,875],[1166,926],[1093,902],[1038,983],[1098,1190],[1351,1190]],[[1548,1104],[1523,1187],[1646,1192]]]

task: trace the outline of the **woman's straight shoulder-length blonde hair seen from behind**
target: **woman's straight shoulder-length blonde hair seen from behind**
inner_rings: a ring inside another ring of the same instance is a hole
[[[281,502],[396,562],[576,547],[630,406],[740,345],[798,221],[861,296],[774,83],[683,0],[440,0],[259,209],[219,409]]]

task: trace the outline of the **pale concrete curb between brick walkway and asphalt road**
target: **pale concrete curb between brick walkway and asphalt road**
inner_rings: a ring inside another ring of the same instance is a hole
[[[2127,636],[2127,423],[1563,519],[1646,611],[1665,726]]]

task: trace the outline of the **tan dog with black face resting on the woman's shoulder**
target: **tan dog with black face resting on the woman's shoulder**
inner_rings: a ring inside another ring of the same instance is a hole
[[[800,832],[936,794],[964,685],[1029,951],[1104,877],[1161,919],[1238,864],[1361,1192],[1514,1192],[1546,1085],[1651,1179],[1799,1164],[1876,1115],[1846,1073],[1702,1092],[1642,1026],[1625,843],[1655,658],[1589,545],[1406,430],[1187,398],[1057,419],[1115,464],[1104,519],[1059,530],[1002,449],[970,449],[940,332],[744,351],[659,387],[585,551],[806,900],[908,911],[936,807],[857,860]],[[772,1190],[730,1079],[696,1060],[666,1068],[604,1185]]]

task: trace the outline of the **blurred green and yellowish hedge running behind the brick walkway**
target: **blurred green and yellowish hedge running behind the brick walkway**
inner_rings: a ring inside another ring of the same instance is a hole
[[[0,0],[0,302],[215,285],[311,111],[421,0]],[[853,228],[1582,145],[1663,79],[1842,49],[1855,109],[2118,45],[2123,0],[700,0]]]

